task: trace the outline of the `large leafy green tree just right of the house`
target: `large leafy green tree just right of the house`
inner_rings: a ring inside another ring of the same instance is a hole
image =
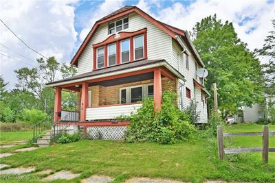
[[[232,23],[208,16],[192,29],[193,43],[209,71],[206,88],[217,83],[219,109],[234,113],[241,106],[263,99],[263,73],[259,60],[238,38]],[[209,100],[208,100],[209,101]],[[210,100],[210,106],[213,99]]]

